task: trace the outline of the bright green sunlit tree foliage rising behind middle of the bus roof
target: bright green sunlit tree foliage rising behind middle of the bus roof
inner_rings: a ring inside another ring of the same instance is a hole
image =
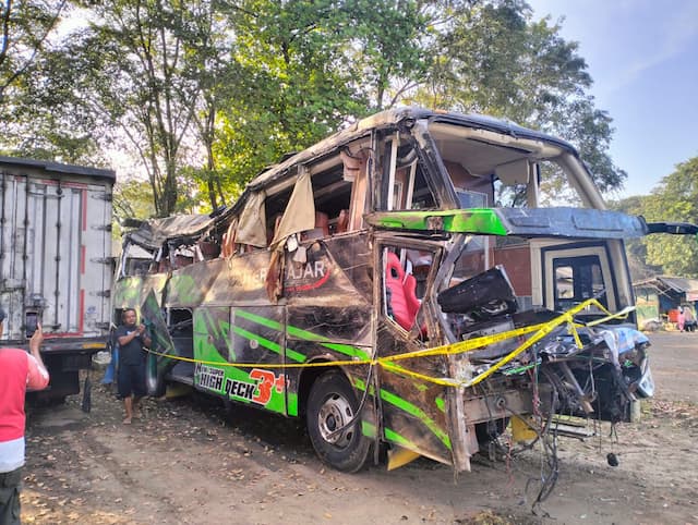
[[[344,52],[347,13],[335,3],[249,0],[229,13],[240,73],[215,154],[233,184],[366,112]]]

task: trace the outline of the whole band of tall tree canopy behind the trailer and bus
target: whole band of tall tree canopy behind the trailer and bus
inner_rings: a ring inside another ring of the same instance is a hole
[[[91,163],[118,148],[139,159],[158,216],[229,204],[284,154],[404,102],[559,135],[602,191],[626,178],[577,44],[522,0],[13,5],[7,35],[19,44],[7,47],[13,61],[0,54],[0,117],[15,133],[0,147]],[[69,8],[84,23],[46,46]]]

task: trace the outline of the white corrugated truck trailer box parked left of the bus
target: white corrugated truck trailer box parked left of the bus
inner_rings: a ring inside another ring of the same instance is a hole
[[[79,393],[80,369],[106,347],[115,181],[111,170],[0,157],[0,344],[26,347],[41,322],[43,399]]]

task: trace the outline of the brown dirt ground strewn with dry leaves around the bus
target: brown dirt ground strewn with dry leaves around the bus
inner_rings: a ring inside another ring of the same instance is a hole
[[[22,495],[36,524],[698,524],[698,333],[652,340],[657,396],[642,420],[559,445],[559,479],[532,508],[540,455],[473,462],[471,473],[418,460],[354,475],[315,457],[302,424],[203,398],[147,400],[122,425],[93,373],[81,399],[33,411]],[[606,454],[619,461],[609,466]]]

